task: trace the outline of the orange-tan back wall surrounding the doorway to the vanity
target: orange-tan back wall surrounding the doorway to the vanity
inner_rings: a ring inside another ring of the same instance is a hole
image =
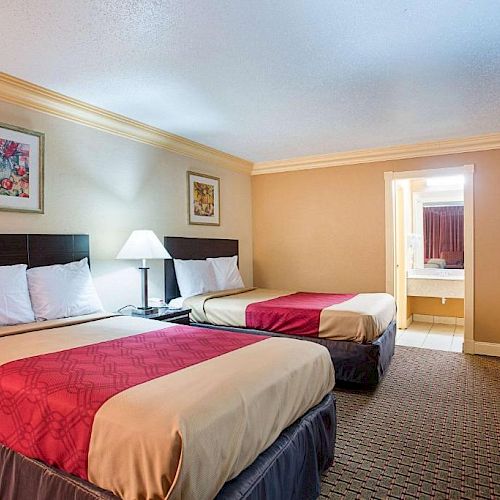
[[[474,163],[475,340],[500,342],[500,151],[253,177],[257,286],[385,289],[384,171]]]

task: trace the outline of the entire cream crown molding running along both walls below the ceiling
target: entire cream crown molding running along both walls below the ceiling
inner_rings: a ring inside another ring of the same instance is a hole
[[[500,133],[252,163],[0,72],[0,100],[252,175],[500,149]]]

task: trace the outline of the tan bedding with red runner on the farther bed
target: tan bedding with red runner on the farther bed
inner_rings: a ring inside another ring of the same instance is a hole
[[[243,288],[183,300],[195,323],[368,343],[394,320],[386,293],[327,294]]]

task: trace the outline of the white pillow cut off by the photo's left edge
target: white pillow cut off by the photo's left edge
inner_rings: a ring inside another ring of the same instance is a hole
[[[31,308],[26,264],[0,267],[0,326],[35,321]]]

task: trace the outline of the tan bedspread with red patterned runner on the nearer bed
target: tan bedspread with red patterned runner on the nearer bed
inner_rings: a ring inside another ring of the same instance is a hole
[[[257,338],[128,316],[2,328],[0,442],[121,498],[213,498],[334,385],[323,347]]]

